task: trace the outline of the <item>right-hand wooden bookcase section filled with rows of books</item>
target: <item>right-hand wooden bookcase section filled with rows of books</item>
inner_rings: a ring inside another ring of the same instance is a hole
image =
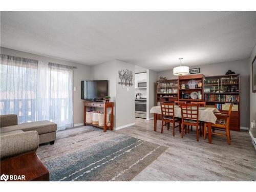
[[[232,103],[230,130],[240,131],[240,75],[218,75],[204,77],[204,101],[207,106],[216,106],[227,112]]]

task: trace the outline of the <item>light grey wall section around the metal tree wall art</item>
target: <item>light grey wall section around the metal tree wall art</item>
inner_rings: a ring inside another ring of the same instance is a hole
[[[119,60],[104,62],[92,67],[92,77],[94,80],[109,80],[109,95],[111,96],[111,101],[115,102],[115,129],[135,123],[134,78],[132,87],[123,88],[118,84],[118,70],[120,69],[129,69],[133,72],[133,75],[135,73],[134,65]]]

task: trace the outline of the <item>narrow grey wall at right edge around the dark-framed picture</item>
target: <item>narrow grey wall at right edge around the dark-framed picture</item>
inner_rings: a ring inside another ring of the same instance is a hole
[[[256,45],[251,53],[251,56],[249,58],[249,71],[250,71],[250,83],[249,83],[249,88],[250,88],[250,104],[249,104],[249,110],[250,110],[250,119],[249,122],[252,122],[255,120],[256,122],[256,93],[252,93],[252,68],[251,68],[251,63],[253,58],[256,55]],[[251,126],[250,126],[251,127]]]

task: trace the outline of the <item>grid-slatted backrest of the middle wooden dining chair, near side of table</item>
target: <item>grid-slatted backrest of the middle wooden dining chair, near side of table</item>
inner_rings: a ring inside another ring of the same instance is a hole
[[[198,104],[184,104],[180,105],[181,118],[196,120],[198,122],[199,105]]]

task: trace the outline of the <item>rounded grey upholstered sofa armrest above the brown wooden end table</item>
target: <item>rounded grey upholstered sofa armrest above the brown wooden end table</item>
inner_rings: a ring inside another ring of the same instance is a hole
[[[0,140],[1,159],[36,151],[39,145],[37,131],[2,135]]]

